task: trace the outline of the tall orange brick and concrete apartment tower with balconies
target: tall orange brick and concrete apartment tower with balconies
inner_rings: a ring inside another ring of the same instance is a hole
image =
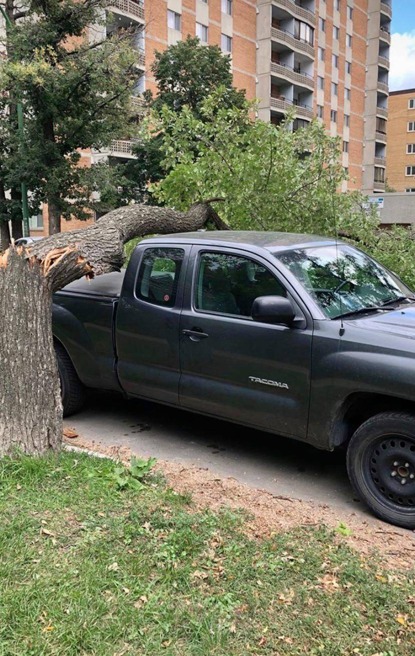
[[[231,54],[235,86],[259,99],[261,119],[279,123],[294,108],[295,130],[317,115],[342,140],[344,188],[384,191],[391,0],[109,2],[108,32],[138,28],[137,108],[144,89],[156,91],[155,51],[197,35]],[[83,152],[82,165],[128,159],[131,148],[120,138],[107,152]],[[46,210],[33,218],[32,234],[44,234],[43,224]],[[62,221],[62,230],[74,227]]]

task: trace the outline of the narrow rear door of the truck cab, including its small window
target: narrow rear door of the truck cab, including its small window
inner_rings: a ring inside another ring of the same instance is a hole
[[[178,403],[179,323],[188,246],[143,245],[117,310],[117,370],[128,394]]]

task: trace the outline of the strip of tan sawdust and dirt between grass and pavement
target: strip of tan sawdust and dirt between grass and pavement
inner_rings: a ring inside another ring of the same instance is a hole
[[[84,440],[80,436],[64,436],[64,441],[125,462],[128,462],[132,455],[129,447],[107,447],[100,442]],[[340,522],[344,522],[352,534],[341,539],[353,546],[363,558],[376,551],[389,567],[414,569],[414,531],[391,526],[376,518],[362,520],[361,516],[354,512],[340,514],[326,504],[273,495],[266,490],[239,483],[235,478],[222,478],[208,468],[167,461],[158,461],[155,468],[165,474],[174,489],[182,493],[190,492],[198,508],[218,510],[227,506],[248,510],[253,518],[246,523],[245,529],[252,537],[269,537],[276,531],[285,531],[300,525],[324,524],[336,527]]]

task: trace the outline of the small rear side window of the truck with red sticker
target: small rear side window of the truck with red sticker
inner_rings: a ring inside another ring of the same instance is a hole
[[[138,272],[136,297],[172,308],[184,251],[180,248],[149,248],[144,252]]]

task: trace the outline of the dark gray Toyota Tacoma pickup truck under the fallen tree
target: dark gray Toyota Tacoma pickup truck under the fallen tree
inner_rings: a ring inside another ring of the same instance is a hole
[[[415,527],[415,297],[359,249],[153,237],[125,272],[56,293],[53,321],[66,415],[99,388],[342,445],[372,511]]]

